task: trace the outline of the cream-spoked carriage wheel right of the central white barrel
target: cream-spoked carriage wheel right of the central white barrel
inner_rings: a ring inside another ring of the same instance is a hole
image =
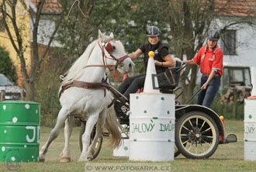
[[[219,145],[219,129],[206,113],[189,112],[178,119],[175,144],[187,158],[206,159]]]

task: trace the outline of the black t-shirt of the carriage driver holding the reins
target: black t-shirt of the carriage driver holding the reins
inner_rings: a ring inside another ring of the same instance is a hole
[[[159,48],[161,50],[159,50]],[[140,46],[140,50],[144,53],[144,64],[145,64],[145,70],[147,71],[147,61],[148,61],[148,52],[154,51],[154,60],[164,62],[163,57],[166,57],[169,53],[168,47],[163,46],[163,44],[158,41],[156,45],[151,45],[150,43],[144,43],[142,46]],[[145,52],[147,50],[147,52]],[[158,52],[160,51],[160,52]],[[157,74],[164,72],[166,67],[161,66],[155,66]]]

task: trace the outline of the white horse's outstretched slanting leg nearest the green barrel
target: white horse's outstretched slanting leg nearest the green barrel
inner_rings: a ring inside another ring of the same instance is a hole
[[[59,135],[61,126],[63,126],[64,121],[67,119],[67,109],[66,108],[61,108],[61,111],[59,112],[57,116],[57,123],[54,126],[54,129],[50,131],[50,136],[47,140],[47,143],[43,145],[43,147],[40,150],[40,156],[39,156],[39,161],[43,162],[45,160],[45,154],[47,153],[48,147],[50,146],[50,143],[57,138]]]

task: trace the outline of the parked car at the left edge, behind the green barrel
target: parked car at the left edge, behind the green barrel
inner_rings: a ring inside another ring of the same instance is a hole
[[[12,84],[4,74],[0,74],[0,94],[5,91],[5,100],[19,100],[26,91]],[[2,97],[2,96],[1,96]]]

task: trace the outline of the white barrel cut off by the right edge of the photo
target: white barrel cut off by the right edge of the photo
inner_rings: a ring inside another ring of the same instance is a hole
[[[244,99],[244,160],[256,160],[256,99]]]

